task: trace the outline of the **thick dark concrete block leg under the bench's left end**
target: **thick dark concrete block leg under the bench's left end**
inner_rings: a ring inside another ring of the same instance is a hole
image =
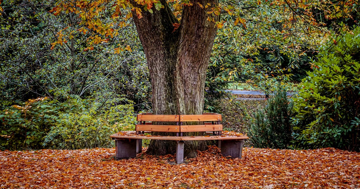
[[[136,139],[115,140],[115,158],[135,157],[136,142]]]

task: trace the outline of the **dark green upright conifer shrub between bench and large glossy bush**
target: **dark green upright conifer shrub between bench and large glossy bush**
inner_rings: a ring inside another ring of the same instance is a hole
[[[286,93],[279,86],[264,110],[257,111],[251,119],[248,135],[254,147],[285,149],[290,144],[292,103]]]

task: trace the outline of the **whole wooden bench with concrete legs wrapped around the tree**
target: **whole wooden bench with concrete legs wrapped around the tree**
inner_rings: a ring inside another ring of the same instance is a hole
[[[135,131],[121,131],[110,137],[115,140],[115,157],[135,157],[142,149],[142,139],[176,140],[176,162],[184,162],[185,140],[217,140],[221,154],[241,158],[243,141],[248,136],[241,134],[222,135],[221,114],[203,113],[202,115],[153,115],[140,113]],[[156,122],[155,124],[153,124]],[[173,125],[158,125],[158,122],[173,122]],[[199,125],[185,125],[187,122],[200,122]],[[151,132],[174,132],[176,136],[145,135]],[[184,132],[204,132],[204,136],[183,136]],[[226,132],[227,134],[228,132]]]

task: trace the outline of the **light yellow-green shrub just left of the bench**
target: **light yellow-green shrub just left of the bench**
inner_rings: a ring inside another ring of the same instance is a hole
[[[116,102],[126,104],[115,105]],[[133,104],[125,98],[115,98],[104,104],[92,103],[76,112],[62,113],[45,136],[44,146],[55,149],[113,147],[109,137],[135,125]]]

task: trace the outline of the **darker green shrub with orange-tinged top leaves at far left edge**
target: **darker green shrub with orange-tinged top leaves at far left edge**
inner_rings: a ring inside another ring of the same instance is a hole
[[[0,111],[0,149],[41,148],[60,107],[44,98],[31,99]]]

